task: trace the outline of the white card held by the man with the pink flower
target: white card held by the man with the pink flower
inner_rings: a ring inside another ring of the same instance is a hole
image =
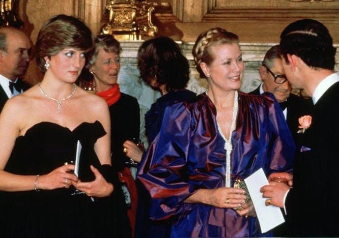
[[[265,201],[267,198],[263,198],[263,194],[260,192],[261,187],[268,185],[264,170],[260,168],[258,171],[248,176],[244,181],[256,209],[261,232],[267,232],[277,225],[284,223],[285,219],[280,208],[273,205],[266,206]]]

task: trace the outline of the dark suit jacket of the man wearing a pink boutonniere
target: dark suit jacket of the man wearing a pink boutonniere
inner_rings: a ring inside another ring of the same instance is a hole
[[[286,198],[293,236],[339,236],[339,82],[313,107]],[[308,150],[308,148],[310,150]]]

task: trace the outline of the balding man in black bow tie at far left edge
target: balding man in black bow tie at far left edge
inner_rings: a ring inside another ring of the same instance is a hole
[[[18,77],[29,67],[31,48],[30,39],[19,29],[0,28],[0,112],[9,98],[29,88]]]

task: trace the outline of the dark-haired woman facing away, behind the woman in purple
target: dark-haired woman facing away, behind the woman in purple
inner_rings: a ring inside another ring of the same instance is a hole
[[[145,115],[146,135],[151,143],[160,130],[165,108],[193,98],[195,94],[185,90],[189,80],[188,61],[171,38],[159,37],[145,41],[138,50],[138,69],[142,79],[162,94]],[[142,160],[142,148],[129,140],[124,146],[128,157],[138,162]],[[138,186],[138,194],[135,237],[167,237],[171,226],[166,222],[151,222],[148,218],[150,197],[141,186]]]

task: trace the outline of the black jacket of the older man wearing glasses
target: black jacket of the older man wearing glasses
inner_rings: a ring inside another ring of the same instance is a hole
[[[249,94],[260,95],[260,86],[253,92]],[[312,101],[306,100],[302,97],[298,97],[294,94],[290,94],[287,99],[287,114],[286,114],[286,122],[290,128],[292,137],[294,142],[298,146],[300,134],[298,134],[298,126],[299,126],[299,117],[303,115],[309,115],[312,107]]]

